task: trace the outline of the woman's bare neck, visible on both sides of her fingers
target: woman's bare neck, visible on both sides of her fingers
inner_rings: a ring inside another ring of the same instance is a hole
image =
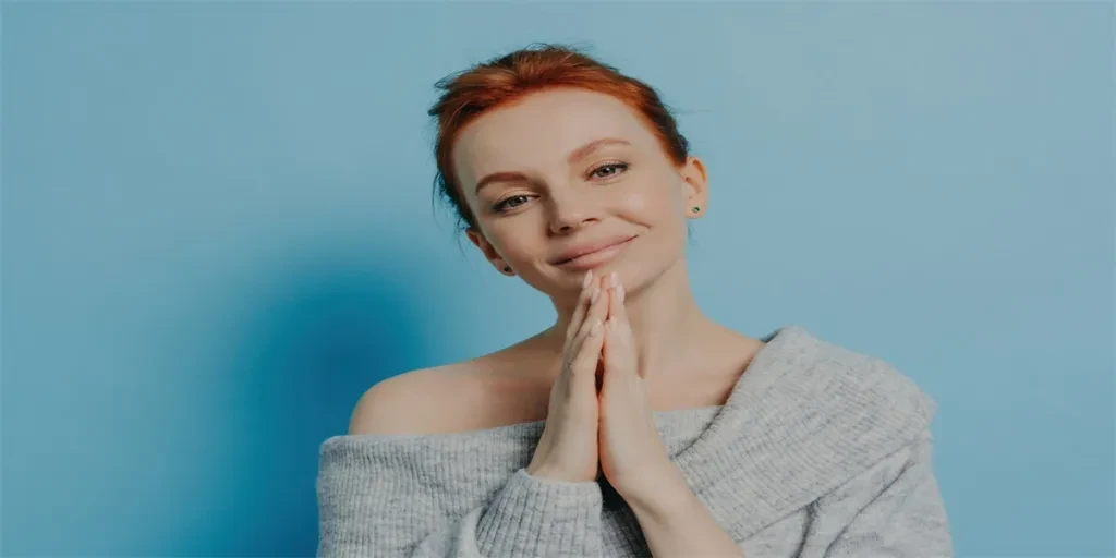
[[[575,304],[555,300],[558,319],[542,337],[556,353],[561,353]],[[624,305],[632,323],[637,363],[647,377],[686,369],[702,350],[701,341],[719,330],[694,300],[684,260],[646,285],[626,291]]]

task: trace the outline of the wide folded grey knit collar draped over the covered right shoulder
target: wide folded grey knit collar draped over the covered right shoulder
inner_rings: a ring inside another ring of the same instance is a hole
[[[672,461],[737,540],[914,441],[935,404],[883,360],[782,327]]]

